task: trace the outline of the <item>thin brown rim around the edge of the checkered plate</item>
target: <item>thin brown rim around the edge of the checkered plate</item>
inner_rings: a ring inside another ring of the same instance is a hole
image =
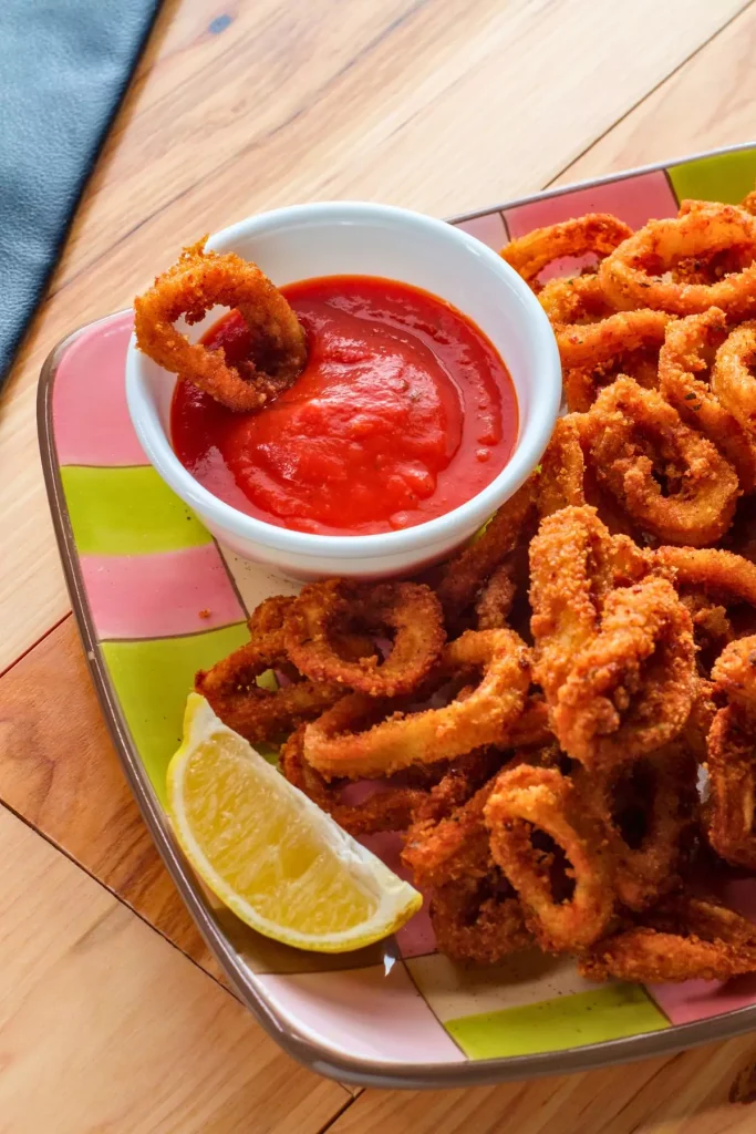
[[[670,161],[638,166],[603,177],[555,186],[528,196],[506,201],[499,205],[457,214],[449,218],[449,222],[459,225],[478,217],[501,213],[503,210],[544,201],[576,189],[608,185],[643,174],[666,171],[676,166],[688,164],[704,158],[747,150],[756,150],[756,141],[720,146]],[[68,348],[85,331],[100,323],[110,322],[128,310],[121,308],[91,320],[69,332],[56,344],[42,365],[37,383],[36,421],[48,503],[87,668],[126,780],[163,864],[207,948],[226,974],[231,991],[252,1013],[263,1030],[299,1064],[341,1083],[384,1090],[438,1090],[440,1088],[484,1086],[545,1075],[596,1070],[615,1064],[632,1063],[661,1055],[674,1055],[703,1043],[733,1039],[756,1029],[756,1004],[754,1004],[687,1024],[670,1024],[669,1027],[654,1032],[603,1040],[564,1050],[541,1051],[523,1056],[500,1056],[493,1059],[464,1058],[458,1063],[417,1063],[407,1066],[388,1064],[377,1059],[350,1057],[330,1048],[324,1042],[313,1040],[304,1029],[292,1026],[263,992],[253,985],[238,960],[236,950],[215,924],[212,907],[176,843],[165,813],[158,801],[131,739],[126,719],[110,683],[104,655],[94,628],[63,494],[61,466],[58,460],[52,422],[52,395],[58,367]],[[190,958],[187,957],[187,959]]]

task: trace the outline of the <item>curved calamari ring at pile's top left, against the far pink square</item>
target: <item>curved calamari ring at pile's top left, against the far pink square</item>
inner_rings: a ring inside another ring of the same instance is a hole
[[[586,253],[605,256],[631,235],[632,229],[611,213],[586,213],[585,217],[533,229],[527,236],[506,245],[501,257],[537,290],[538,276],[554,260]]]

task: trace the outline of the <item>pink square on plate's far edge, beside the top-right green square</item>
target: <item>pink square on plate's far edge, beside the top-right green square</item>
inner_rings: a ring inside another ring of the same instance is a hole
[[[513,239],[542,225],[554,225],[587,212],[610,212],[630,228],[640,228],[652,217],[676,217],[677,211],[678,203],[666,175],[656,170],[516,205],[504,210],[504,218]]]

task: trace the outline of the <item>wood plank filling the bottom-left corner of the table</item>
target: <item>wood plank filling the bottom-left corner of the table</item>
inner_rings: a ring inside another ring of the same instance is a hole
[[[0,810],[2,1134],[316,1134],[348,1102]]]

